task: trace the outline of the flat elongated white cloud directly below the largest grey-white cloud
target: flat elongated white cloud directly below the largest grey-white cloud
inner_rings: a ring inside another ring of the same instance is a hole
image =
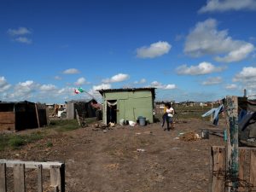
[[[204,75],[209,73],[221,72],[224,67],[215,67],[212,63],[201,62],[197,66],[182,65],[176,68],[176,73],[180,75]]]

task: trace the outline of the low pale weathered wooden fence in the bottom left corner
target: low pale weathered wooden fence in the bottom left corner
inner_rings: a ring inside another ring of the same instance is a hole
[[[37,170],[37,189],[43,192],[43,170],[49,170],[50,189],[52,192],[65,192],[65,164],[60,162],[34,162],[21,160],[0,160],[0,191],[7,192],[7,168],[13,169],[15,192],[26,192],[26,169]]]

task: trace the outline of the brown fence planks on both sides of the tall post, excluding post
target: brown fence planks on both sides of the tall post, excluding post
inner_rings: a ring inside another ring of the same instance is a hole
[[[226,148],[212,146],[212,192],[256,190],[256,148],[239,147],[238,177],[227,170]],[[233,187],[232,183],[236,183]]]

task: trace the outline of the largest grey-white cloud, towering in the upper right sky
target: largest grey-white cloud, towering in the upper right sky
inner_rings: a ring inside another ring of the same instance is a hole
[[[186,38],[184,52],[187,55],[199,57],[202,55],[224,55],[217,56],[217,61],[241,61],[245,59],[254,49],[253,44],[233,40],[228,36],[228,31],[217,30],[217,20],[208,19],[198,22],[195,28],[189,32]]]

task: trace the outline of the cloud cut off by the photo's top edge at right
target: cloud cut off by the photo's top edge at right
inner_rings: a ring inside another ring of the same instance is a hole
[[[256,10],[255,0],[208,0],[207,5],[203,6],[199,13],[237,11],[241,9]]]

